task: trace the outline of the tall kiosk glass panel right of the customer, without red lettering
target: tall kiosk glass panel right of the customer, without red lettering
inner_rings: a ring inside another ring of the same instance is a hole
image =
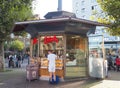
[[[86,76],[85,38],[68,35],[66,38],[66,77]]]

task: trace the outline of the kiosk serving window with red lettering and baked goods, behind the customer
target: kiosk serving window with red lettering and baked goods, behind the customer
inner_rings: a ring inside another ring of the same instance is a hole
[[[48,50],[52,50],[57,55],[56,68],[62,69],[63,67],[63,36],[41,36],[40,37],[40,57],[41,68],[48,66]]]

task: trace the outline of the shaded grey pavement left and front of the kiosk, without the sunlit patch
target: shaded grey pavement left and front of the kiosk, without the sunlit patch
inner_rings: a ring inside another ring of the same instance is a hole
[[[26,80],[25,69],[12,68],[9,70],[12,71],[0,73],[0,88],[73,88],[73,86],[77,88],[83,82],[60,82],[57,85],[51,85],[48,81],[42,80],[29,82]]]

